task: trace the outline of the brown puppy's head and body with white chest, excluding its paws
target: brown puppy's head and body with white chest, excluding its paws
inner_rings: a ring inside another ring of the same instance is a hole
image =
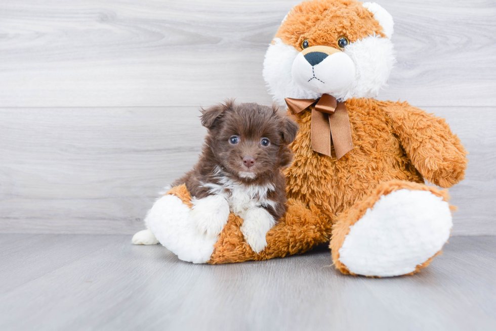
[[[286,184],[280,169],[291,162],[287,146],[298,131],[296,123],[277,107],[232,101],[203,110],[201,122],[208,134],[199,161],[174,185],[186,184],[195,199],[222,196],[240,215],[262,207],[275,219],[282,217]],[[246,166],[247,159],[253,165]]]

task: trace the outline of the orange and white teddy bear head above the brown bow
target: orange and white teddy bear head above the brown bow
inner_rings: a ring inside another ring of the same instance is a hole
[[[283,19],[264,61],[274,101],[377,96],[395,61],[391,15],[376,3],[312,0]]]

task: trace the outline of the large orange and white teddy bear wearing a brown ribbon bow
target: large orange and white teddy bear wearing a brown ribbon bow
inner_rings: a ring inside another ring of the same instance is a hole
[[[184,185],[153,205],[148,243],[193,263],[265,260],[328,243],[344,274],[399,276],[426,267],[448,240],[455,208],[446,190],[425,181],[458,183],[467,152],[444,119],[374,99],[395,62],[392,34],[391,15],[376,3],[295,6],[263,69],[273,100],[300,126],[284,170],[287,212],[267,233],[267,246],[252,251],[235,214],[218,236],[199,233]]]

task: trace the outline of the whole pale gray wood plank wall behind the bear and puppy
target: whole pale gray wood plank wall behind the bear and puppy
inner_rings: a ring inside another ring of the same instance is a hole
[[[2,0],[0,232],[133,233],[195,162],[197,115],[270,104],[266,47],[299,1]],[[378,0],[397,50],[379,98],[443,116],[470,152],[454,234],[496,234],[496,6]]]

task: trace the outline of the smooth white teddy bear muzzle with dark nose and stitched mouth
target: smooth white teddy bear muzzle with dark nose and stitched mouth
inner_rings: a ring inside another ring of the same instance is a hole
[[[355,79],[355,63],[343,52],[327,55],[300,52],[293,62],[292,76],[304,89],[330,95],[345,94]]]

